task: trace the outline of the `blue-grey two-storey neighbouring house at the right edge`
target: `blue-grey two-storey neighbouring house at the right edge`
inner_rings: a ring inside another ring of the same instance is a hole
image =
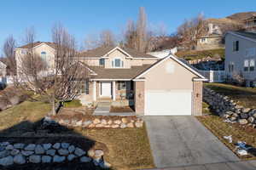
[[[247,86],[256,86],[256,33],[230,31],[225,35],[225,72],[244,77]]]

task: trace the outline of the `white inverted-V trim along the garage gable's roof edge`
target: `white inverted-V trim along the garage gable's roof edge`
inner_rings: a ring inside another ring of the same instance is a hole
[[[182,61],[180,61],[179,59],[177,59],[173,54],[169,54],[168,56],[166,56],[166,58],[163,58],[162,60],[160,60],[159,63],[157,63],[156,65],[160,65],[162,62],[164,62],[166,59],[173,59],[175,60],[178,64],[183,65],[183,67],[187,68],[189,71],[193,72],[196,76],[201,77],[202,79],[206,79],[205,77],[201,76],[201,74],[197,71],[195,71],[194,69],[190,68],[188,65],[185,65]],[[144,71],[143,73],[141,73],[140,75],[138,75],[137,77],[135,77],[135,79],[141,78],[143,77],[143,75],[145,75],[148,71],[150,71],[152,68],[154,68],[156,65],[153,65],[151,68],[149,68],[147,71]]]

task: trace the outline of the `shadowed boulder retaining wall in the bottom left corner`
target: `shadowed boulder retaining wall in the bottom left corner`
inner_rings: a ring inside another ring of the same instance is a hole
[[[61,163],[63,161],[93,162],[95,166],[109,168],[103,160],[103,150],[82,150],[69,143],[55,144],[10,144],[0,143],[0,166],[22,165],[26,163]]]

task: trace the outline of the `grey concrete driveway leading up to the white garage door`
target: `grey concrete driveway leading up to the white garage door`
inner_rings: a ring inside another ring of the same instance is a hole
[[[239,161],[194,116],[145,116],[156,167]]]

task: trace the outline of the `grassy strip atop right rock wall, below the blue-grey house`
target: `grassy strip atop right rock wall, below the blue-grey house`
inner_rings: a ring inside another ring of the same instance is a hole
[[[205,83],[205,87],[211,88],[218,94],[229,96],[239,105],[256,108],[256,88],[238,87],[224,83]]]

